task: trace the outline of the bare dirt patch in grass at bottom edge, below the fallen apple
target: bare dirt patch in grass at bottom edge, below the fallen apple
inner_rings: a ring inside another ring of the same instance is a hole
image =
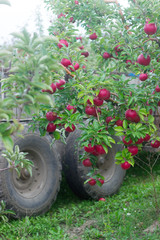
[[[75,227],[73,229],[68,230],[68,234],[70,235],[70,239],[81,240],[81,235],[83,234],[85,228],[90,228],[94,226],[96,223],[95,220],[88,220],[82,226]]]

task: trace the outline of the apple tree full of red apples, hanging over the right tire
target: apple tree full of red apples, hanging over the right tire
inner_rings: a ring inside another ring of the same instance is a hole
[[[130,0],[123,8],[117,1],[45,3],[57,16],[49,28],[57,42],[47,45],[55,66],[42,80],[48,87],[40,91],[53,105],[39,105],[32,127],[56,140],[81,129],[80,159],[86,168],[92,166],[87,181],[101,186],[97,157],[114,144],[123,145],[115,156],[123,169],[134,166],[134,156],[145,144],[160,147],[154,124],[160,106],[159,4]]]

